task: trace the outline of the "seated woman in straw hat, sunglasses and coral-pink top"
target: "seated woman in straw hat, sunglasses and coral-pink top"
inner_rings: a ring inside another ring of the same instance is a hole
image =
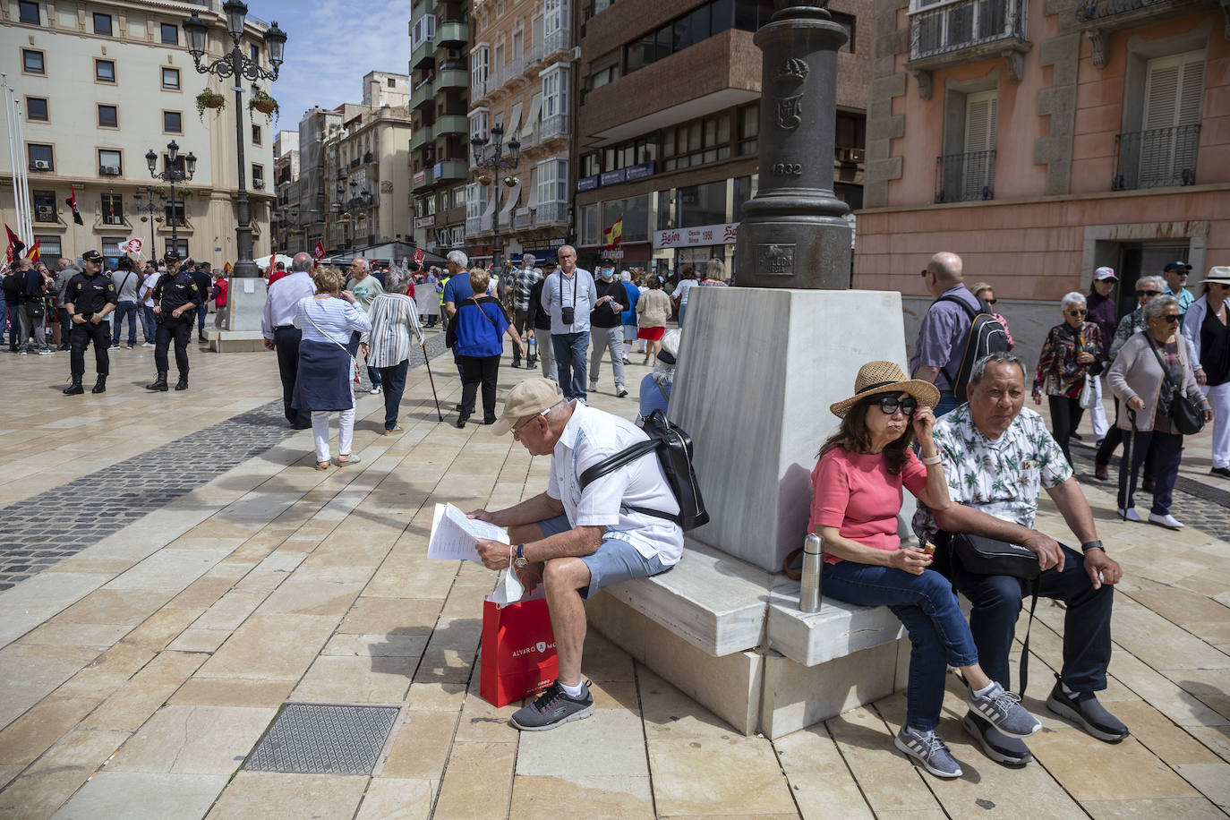
[[[1004,734],[1028,738],[1041,724],[1021,698],[983,672],[952,584],[927,569],[930,554],[902,548],[897,535],[903,487],[932,510],[950,504],[931,438],[938,401],[934,385],[907,380],[892,361],[859,370],[855,395],[829,408],[841,427],[820,447],[812,471],[811,531],[824,541],[824,593],[888,606],[910,634],[905,725],[897,747],[937,777],[959,777],[961,766],[936,731],[948,666],[969,684],[969,707]],[[915,436],[921,459],[910,449]]]

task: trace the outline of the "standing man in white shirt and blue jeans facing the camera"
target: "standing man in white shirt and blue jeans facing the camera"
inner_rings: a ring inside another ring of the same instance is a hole
[[[563,245],[560,270],[544,279],[542,309],[551,313],[551,344],[565,398],[585,400],[589,313],[598,301],[594,277],[577,267],[577,248]]]

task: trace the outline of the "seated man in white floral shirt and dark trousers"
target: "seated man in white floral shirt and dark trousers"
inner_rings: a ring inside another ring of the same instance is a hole
[[[978,575],[951,561],[948,534],[968,532],[1018,543],[1038,556],[1039,595],[1064,601],[1064,663],[1047,707],[1095,738],[1118,743],[1128,729],[1098,702],[1111,661],[1112,590],[1119,564],[1097,540],[1093,514],[1063,451],[1036,412],[1025,408],[1025,365],[1010,353],[979,361],[969,377],[969,401],[935,425],[952,504],[932,515],[919,505],[914,531],[935,541],[936,567],[951,578],[973,609],[969,627],[978,658],[991,680],[1009,688],[1009,652],[1021,612],[1023,583],[1011,575]],[[1038,493],[1046,488],[1064,521],[1081,540],[1084,554],[1033,529]],[[996,731],[977,714],[968,731],[991,760],[1025,763],[1021,740]]]

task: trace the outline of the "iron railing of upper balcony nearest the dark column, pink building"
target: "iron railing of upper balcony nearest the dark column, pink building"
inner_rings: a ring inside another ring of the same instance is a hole
[[[910,16],[910,60],[1025,39],[1026,0],[957,0]]]

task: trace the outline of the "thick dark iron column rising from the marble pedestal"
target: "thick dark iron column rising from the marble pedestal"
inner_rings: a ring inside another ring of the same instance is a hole
[[[846,32],[827,2],[776,0],[771,22],[755,34],[760,184],[743,207],[737,285],[849,288],[849,208],[833,195],[838,49]]]

